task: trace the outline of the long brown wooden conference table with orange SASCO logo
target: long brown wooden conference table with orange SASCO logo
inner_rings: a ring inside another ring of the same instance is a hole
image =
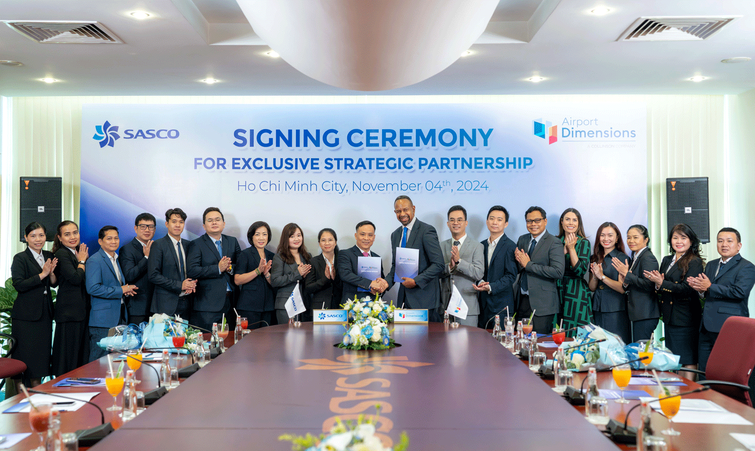
[[[580,410],[485,330],[399,324],[393,337],[402,346],[388,351],[336,348],[343,330],[312,323],[254,330],[131,422],[121,425],[105,411],[106,421],[114,420],[119,429],[91,449],[287,450],[290,443],[280,442],[280,434],[328,431],[336,416],[347,420],[373,414],[375,403],[382,406],[378,433],[396,442],[406,431],[410,449],[616,449]],[[105,371],[103,358],[66,376],[103,376]],[[152,370],[143,368],[137,376],[143,391],[156,385]],[[611,388],[609,373],[600,378]],[[50,386],[40,389],[97,390]],[[100,390],[103,394],[93,401],[107,407],[112,397]],[[755,410],[720,394],[707,397],[755,421]],[[18,400],[6,400],[0,408]],[[614,404],[617,417],[632,405]],[[0,434],[29,431],[26,418],[2,415]],[[99,413],[82,407],[62,414],[61,429],[98,423]],[[665,422],[654,416],[654,424]],[[721,432],[712,433],[716,427],[708,425],[675,428],[682,435],[673,448],[695,451],[735,449],[738,443],[728,432],[753,429],[719,426]],[[29,449],[34,440],[29,437],[11,449]]]

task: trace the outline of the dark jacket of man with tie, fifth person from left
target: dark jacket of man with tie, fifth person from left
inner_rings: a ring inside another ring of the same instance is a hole
[[[186,278],[189,278],[191,243],[192,241],[181,238],[182,252],[184,259],[186,259],[186,266],[183,268]],[[173,247],[173,241],[169,235],[165,235],[152,244],[152,249],[149,250],[149,259],[147,259],[147,278],[153,284],[150,311],[170,315],[176,312],[178,296],[183,285],[180,274],[178,255]],[[188,296],[193,296],[193,294]]]

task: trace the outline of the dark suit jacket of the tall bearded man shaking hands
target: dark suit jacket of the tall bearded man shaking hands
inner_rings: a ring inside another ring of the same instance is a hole
[[[401,245],[403,226],[390,234],[390,244],[393,250],[390,274],[387,282],[389,288],[393,286],[393,275],[396,273],[396,247]],[[401,306],[404,302],[407,308],[427,308],[433,310],[440,305],[439,277],[443,273],[443,252],[440,250],[440,241],[435,227],[417,219],[411,233],[406,238],[406,247],[420,251],[419,273],[414,278],[417,284],[414,288],[399,286],[399,295],[396,296],[396,305]]]

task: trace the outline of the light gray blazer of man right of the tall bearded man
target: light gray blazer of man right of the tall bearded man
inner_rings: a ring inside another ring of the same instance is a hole
[[[469,235],[464,238],[464,243],[459,249],[459,262],[453,269],[448,269],[451,262],[451,246],[453,238],[442,241],[440,250],[443,253],[443,272],[440,275],[440,302],[445,311],[448,301],[451,299],[451,278],[456,289],[461,293],[464,302],[467,302],[469,311],[467,314],[479,314],[479,301],[477,291],[472,287],[485,275],[485,256],[482,243],[474,241]]]

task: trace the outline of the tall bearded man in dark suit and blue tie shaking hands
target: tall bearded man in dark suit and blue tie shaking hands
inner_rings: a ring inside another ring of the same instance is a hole
[[[401,227],[390,235],[393,260],[387,283],[393,286],[396,274],[396,247],[419,250],[419,271],[414,278],[401,278],[396,305],[407,308],[427,308],[430,321],[442,321],[436,308],[440,305],[439,276],[443,272],[443,253],[438,233],[433,226],[414,217],[414,204],[408,196],[400,195],[393,202],[393,213]]]

